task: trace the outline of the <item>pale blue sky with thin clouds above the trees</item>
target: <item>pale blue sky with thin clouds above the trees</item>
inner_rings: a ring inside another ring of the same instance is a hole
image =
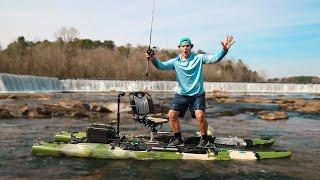
[[[0,0],[2,49],[24,36],[55,40],[61,27],[79,38],[148,45],[152,0]],[[152,46],[175,49],[189,37],[194,51],[220,51],[266,78],[320,76],[319,0],[155,0]]]

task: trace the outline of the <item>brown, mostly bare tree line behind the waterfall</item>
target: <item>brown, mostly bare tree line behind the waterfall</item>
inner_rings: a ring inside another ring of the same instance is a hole
[[[75,29],[61,28],[55,41],[28,41],[20,36],[0,49],[0,72],[58,78],[147,79],[147,46],[116,46],[112,40],[77,38]],[[205,53],[198,50],[198,53]],[[158,49],[162,60],[174,58],[178,50]],[[262,82],[264,78],[242,60],[225,59],[204,67],[206,81]],[[151,80],[175,80],[174,71],[149,67]]]

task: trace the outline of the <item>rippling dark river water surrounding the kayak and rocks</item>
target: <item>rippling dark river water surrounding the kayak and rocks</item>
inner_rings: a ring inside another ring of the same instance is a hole
[[[171,95],[153,95],[170,102]],[[116,101],[115,94],[58,94],[101,101]],[[24,100],[24,103],[37,103]],[[3,101],[1,103],[13,103]],[[276,105],[219,104],[207,100],[207,121],[216,136],[272,136],[276,143],[269,149],[292,151],[291,158],[261,161],[136,161],[39,157],[31,154],[33,140],[52,141],[56,130],[84,130],[88,119],[2,119],[0,120],[0,178],[21,179],[320,179],[320,116],[288,112],[288,120],[260,120],[251,112],[221,116],[224,110],[260,108],[276,110]],[[142,132],[130,116],[121,116],[123,132]],[[110,117],[114,118],[114,117]],[[181,120],[186,131],[196,130],[196,122],[187,116]],[[191,127],[191,128],[190,128]],[[166,128],[166,127],[165,127]],[[144,131],[143,131],[144,132]],[[148,131],[145,131],[147,133]]]

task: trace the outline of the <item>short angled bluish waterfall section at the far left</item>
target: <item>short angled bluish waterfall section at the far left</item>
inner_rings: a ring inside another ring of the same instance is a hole
[[[0,92],[59,92],[63,87],[58,78],[0,74]]]

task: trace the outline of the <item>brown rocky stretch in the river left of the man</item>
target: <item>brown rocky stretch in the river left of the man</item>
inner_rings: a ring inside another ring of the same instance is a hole
[[[0,105],[0,119],[15,118],[115,118],[117,102],[81,101],[74,98],[54,99],[50,94],[0,94],[0,100],[10,103]],[[54,99],[54,101],[53,101]],[[25,101],[37,101],[26,103]],[[53,101],[53,102],[52,102]],[[160,102],[161,103],[161,102]],[[169,107],[155,104],[157,111],[167,111]],[[131,113],[128,101],[120,103],[122,113]]]

